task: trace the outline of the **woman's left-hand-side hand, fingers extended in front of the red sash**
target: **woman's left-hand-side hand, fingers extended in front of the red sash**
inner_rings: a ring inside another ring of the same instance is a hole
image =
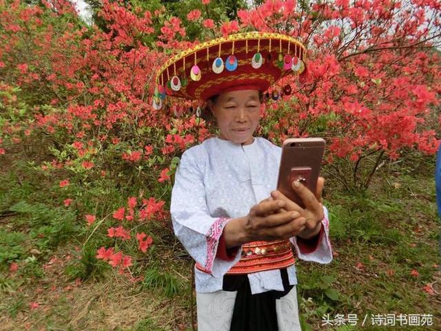
[[[245,217],[230,220],[223,230],[227,248],[251,241],[288,239],[305,230],[306,219],[287,208],[283,199],[265,199],[253,205]]]

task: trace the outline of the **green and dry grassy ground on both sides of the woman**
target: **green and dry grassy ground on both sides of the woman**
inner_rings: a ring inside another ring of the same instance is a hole
[[[367,315],[368,322],[371,314],[433,314],[433,324],[440,327],[434,162],[422,158],[416,169],[409,163],[384,167],[364,194],[345,194],[327,182],[325,205],[336,256],[328,265],[296,262],[303,330],[320,330],[326,314],[331,319],[357,314],[359,320]],[[147,225],[154,245],[132,268],[143,280],[132,283],[94,257],[96,248],[110,241],[92,237],[83,247],[90,232],[77,212],[112,212],[118,194],[110,183],[105,189],[77,188],[89,205],[79,199],[76,208],[64,208],[48,179],[26,167],[0,179],[1,330],[191,330],[192,263],[169,225]],[[100,192],[109,194],[107,200],[90,203]],[[137,248],[127,243],[124,249]],[[17,272],[8,270],[12,262],[19,263]],[[435,294],[424,291],[427,284]]]

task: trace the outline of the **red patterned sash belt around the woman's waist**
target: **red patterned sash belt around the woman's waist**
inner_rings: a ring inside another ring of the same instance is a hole
[[[249,274],[265,270],[287,268],[293,265],[294,254],[289,239],[278,241],[253,241],[242,246],[242,257],[227,274]],[[196,268],[207,272],[202,265]]]

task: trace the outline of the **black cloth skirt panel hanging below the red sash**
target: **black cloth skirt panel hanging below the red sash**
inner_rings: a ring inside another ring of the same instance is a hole
[[[276,299],[284,297],[294,287],[289,285],[286,268],[280,269],[283,291],[271,290],[251,294],[246,274],[226,274],[224,291],[237,291],[230,331],[278,331]]]

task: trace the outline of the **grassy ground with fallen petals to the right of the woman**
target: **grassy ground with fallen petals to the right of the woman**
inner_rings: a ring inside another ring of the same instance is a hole
[[[441,228],[433,179],[427,176],[432,173],[430,161],[427,171],[412,175],[380,173],[369,194],[336,193],[325,201],[338,255],[320,267],[298,261],[306,330],[318,330],[322,314],[433,314],[434,325],[441,325],[441,272],[436,266],[441,264]],[[335,277],[331,288],[340,294],[338,300],[309,290],[320,274]],[[428,283],[438,294],[424,292]]]

